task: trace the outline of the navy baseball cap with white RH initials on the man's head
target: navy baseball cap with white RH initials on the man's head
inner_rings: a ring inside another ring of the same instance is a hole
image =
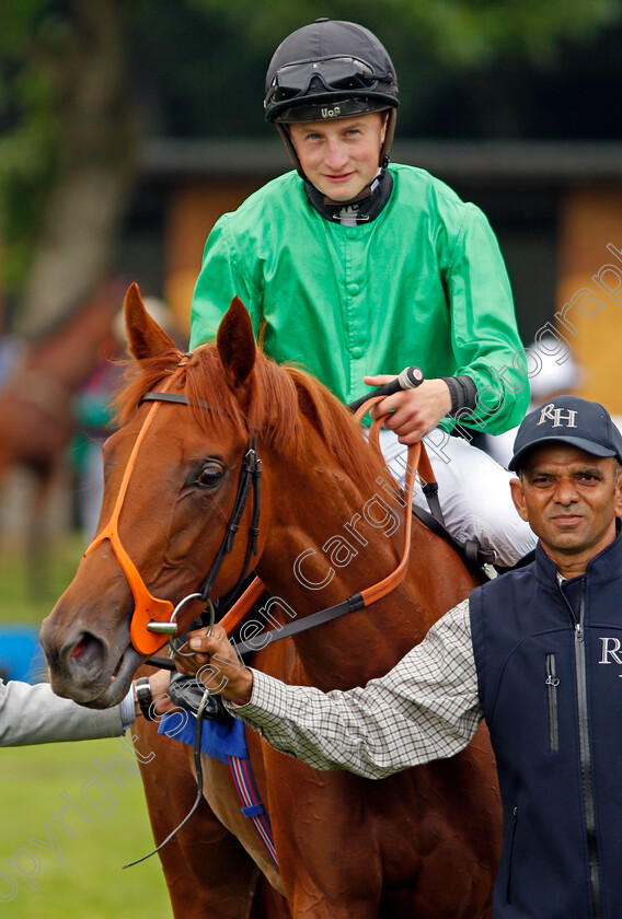
[[[622,464],[622,434],[611,416],[603,406],[578,396],[560,396],[526,416],[508,469],[519,469],[526,454],[543,443],[569,443],[592,456],[615,456]]]

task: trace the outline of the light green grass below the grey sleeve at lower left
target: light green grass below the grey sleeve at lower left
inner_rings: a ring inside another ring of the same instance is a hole
[[[170,919],[158,856],[122,871],[123,864],[152,849],[142,786],[138,776],[117,764],[115,775],[124,784],[117,787],[93,758],[106,763],[125,749],[126,744],[122,747],[113,738],[0,751],[0,917]],[[133,763],[131,749],[126,758]],[[66,826],[73,836],[54,819],[69,801],[91,817],[88,822],[74,810],[67,812]],[[54,848],[60,850],[61,864]],[[31,884],[20,876],[20,868],[34,875]]]

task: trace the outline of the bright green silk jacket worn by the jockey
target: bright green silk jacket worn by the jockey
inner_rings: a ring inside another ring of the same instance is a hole
[[[223,214],[205,246],[191,347],[216,336],[237,294],[265,352],[303,365],[342,402],[369,392],[365,375],[416,364],[426,377],[471,376],[476,427],[506,431],[529,386],[496,237],[424,170],[390,170],[391,197],[369,223],[323,218],[296,172]]]

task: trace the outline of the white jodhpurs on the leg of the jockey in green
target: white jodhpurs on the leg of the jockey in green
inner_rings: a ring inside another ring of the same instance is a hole
[[[497,563],[506,567],[516,565],[534,548],[535,536],[511,500],[512,473],[463,438],[449,437],[440,428],[426,435],[424,443],[438,481],[445,524],[452,536],[477,539],[484,548],[494,549]],[[391,473],[403,486],[407,447],[385,428],[380,430],[380,447]],[[427,510],[418,484],[414,502]]]

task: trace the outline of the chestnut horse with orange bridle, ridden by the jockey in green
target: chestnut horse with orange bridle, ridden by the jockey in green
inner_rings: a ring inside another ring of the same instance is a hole
[[[250,435],[263,465],[252,565],[281,601],[270,616],[300,619],[382,581],[398,565],[404,530],[383,461],[347,409],[308,374],[257,351],[238,299],[217,342],[192,356],[180,354],[148,317],[136,287],[126,298],[126,323],[135,375],[120,399],[125,423],[105,446],[99,537],[42,630],[54,689],[94,708],[118,702],[161,642],[146,621],[168,620],[169,601],[203,584],[237,503]],[[140,403],[163,389],[186,404]],[[252,503],[212,597],[231,591],[244,568]],[[476,583],[453,549],[417,520],[411,545],[406,578],[382,601],[267,644],[253,666],[324,690],[387,672]],[[130,568],[140,572],[131,591]],[[191,607],[180,616],[182,628],[196,615]],[[205,795],[285,895],[293,919],[489,916],[500,807],[484,728],[458,756],[378,782],[318,772],[253,731],[246,741],[278,869],[240,812],[227,765],[209,757],[203,758]],[[162,741],[148,767],[162,776],[165,743],[171,758],[180,749],[191,756],[189,747]],[[216,908],[205,915],[220,916]]]

